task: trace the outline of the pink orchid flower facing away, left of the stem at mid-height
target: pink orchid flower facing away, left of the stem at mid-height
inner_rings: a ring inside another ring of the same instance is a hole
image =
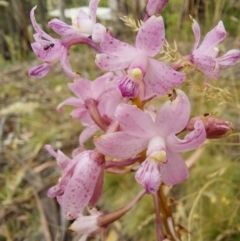
[[[121,100],[121,94],[116,88],[115,76],[112,72],[106,73],[94,81],[77,79],[74,83],[68,84],[68,87],[77,97],[66,99],[57,107],[57,110],[61,111],[63,105],[76,107],[72,111],[71,116],[79,120],[85,127],[79,137],[79,142],[82,146],[101,127],[96,124],[96,119],[93,120],[86,103],[89,100],[93,100],[101,119],[108,125]]]

